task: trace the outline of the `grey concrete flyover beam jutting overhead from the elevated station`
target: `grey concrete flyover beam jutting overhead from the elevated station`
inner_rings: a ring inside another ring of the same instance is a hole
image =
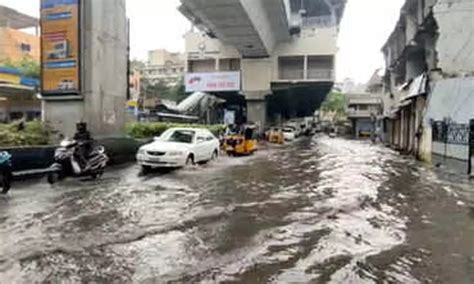
[[[268,57],[277,43],[290,39],[284,0],[181,0],[179,10],[244,58]]]

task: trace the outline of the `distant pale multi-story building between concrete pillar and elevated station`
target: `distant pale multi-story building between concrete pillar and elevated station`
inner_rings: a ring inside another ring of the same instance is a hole
[[[182,53],[173,53],[165,49],[148,52],[148,62],[143,77],[151,84],[158,82],[175,86],[184,76],[185,60]]]

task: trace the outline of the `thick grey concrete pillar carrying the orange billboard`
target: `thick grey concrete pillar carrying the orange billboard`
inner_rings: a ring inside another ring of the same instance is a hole
[[[81,96],[45,100],[43,119],[64,136],[78,121],[95,136],[119,134],[128,81],[125,0],[83,0],[81,20]]]

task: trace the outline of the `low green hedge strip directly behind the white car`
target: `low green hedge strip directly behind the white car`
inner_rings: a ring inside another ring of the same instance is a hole
[[[225,130],[223,125],[202,125],[202,124],[180,124],[180,123],[131,123],[126,126],[127,134],[136,139],[152,138],[160,136],[163,132],[173,127],[195,127],[209,129],[214,135]]]

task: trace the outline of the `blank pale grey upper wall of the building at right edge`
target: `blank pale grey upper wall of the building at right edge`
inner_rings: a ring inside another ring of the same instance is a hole
[[[474,72],[474,1],[438,1],[439,67],[448,74]]]

